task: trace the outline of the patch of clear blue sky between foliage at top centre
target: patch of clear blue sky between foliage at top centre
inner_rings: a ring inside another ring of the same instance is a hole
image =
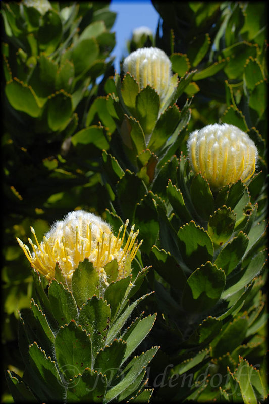
[[[116,46],[111,53],[116,56],[114,66],[120,72],[120,59],[127,56],[126,41],[131,38],[134,28],[146,26],[156,33],[159,14],[150,0],[112,0],[110,10],[117,13],[112,31],[116,32]]]

